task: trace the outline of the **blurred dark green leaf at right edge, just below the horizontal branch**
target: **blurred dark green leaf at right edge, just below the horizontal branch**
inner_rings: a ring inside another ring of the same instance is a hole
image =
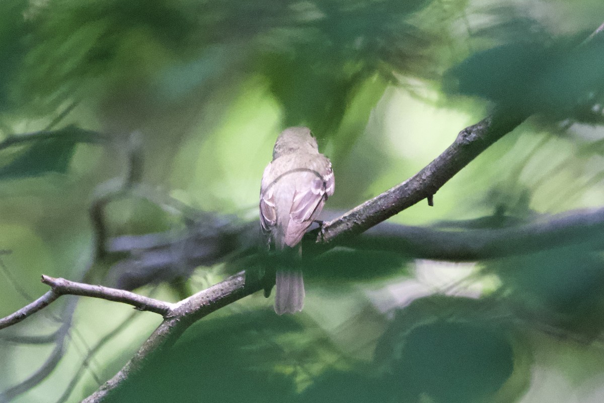
[[[528,321],[543,321],[587,338],[604,329],[604,262],[583,247],[557,248],[501,259],[487,265],[511,292]]]

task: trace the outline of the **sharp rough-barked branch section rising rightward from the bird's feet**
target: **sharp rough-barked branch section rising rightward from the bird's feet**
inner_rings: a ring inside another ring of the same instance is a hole
[[[410,179],[353,208],[340,218],[324,223],[318,242],[333,242],[341,236],[355,236],[400,213],[434,193],[495,141],[511,132],[528,116],[498,111],[466,127],[434,161]]]

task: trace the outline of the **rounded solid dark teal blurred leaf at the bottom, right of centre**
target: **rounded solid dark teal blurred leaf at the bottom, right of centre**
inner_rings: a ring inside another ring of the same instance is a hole
[[[512,346],[494,329],[439,321],[411,330],[391,368],[402,401],[471,402],[493,395],[513,371]]]

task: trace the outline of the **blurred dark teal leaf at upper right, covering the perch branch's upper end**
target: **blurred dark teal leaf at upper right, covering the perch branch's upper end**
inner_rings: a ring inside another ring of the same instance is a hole
[[[604,90],[604,38],[581,43],[587,36],[512,42],[478,52],[446,73],[446,89],[554,120],[580,118],[577,110],[596,105]]]

